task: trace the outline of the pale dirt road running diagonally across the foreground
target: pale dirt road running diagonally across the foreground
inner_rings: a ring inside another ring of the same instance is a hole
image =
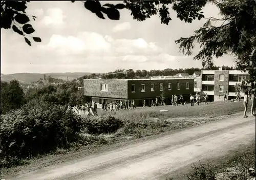
[[[163,179],[255,139],[255,117],[230,118],[6,179]]]

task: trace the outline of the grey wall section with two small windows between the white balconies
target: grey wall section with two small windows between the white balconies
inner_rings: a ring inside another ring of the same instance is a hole
[[[220,81],[219,76],[224,75],[224,81]],[[214,95],[223,96],[225,91],[228,92],[229,71],[215,71],[214,74]],[[223,85],[223,92],[219,92],[219,85]]]

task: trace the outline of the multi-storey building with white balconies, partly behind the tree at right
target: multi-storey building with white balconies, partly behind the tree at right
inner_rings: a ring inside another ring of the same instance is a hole
[[[249,79],[247,71],[229,71],[221,68],[216,71],[202,70],[201,77],[201,89],[209,95],[211,101],[222,101],[226,91],[229,99],[236,97],[236,84]],[[243,92],[240,94],[241,97],[244,97]]]

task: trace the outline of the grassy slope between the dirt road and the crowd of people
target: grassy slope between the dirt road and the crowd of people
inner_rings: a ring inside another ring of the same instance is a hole
[[[160,113],[160,109],[169,109],[169,111]],[[241,112],[241,110],[243,110],[242,102],[216,102],[209,105],[188,106],[188,108],[185,106],[165,106],[164,108],[139,108],[136,110],[118,111],[114,113],[114,116],[129,123],[116,133],[109,134],[112,135],[113,138],[107,137],[106,139],[108,140],[96,141],[89,146],[75,146],[69,150],[58,149],[52,154],[38,156],[38,158],[28,161],[28,163],[32,164],[29,165],[27,169],[33,170],[45,165],[74,159],[75,156],[79,157],[81,155],[84,156],[90,153],[125,146],[126,144],[132,143],[132,141],[143,141],[143,139],[148,136],[151,136],[148,138],[153,138],[154,136],[169,133],[170,130],[176,131],[181,128],[226,118],[228,115]],[[238,116],[238,114],[232,116]],[[242,116],[242,114],[240,113],[239,116]],[[135,125],[131,126],[131,124]],[[129,130],[129,132],[127,132],[127,130]],[[102,137],[99,140],[102,140]],[[67,152],[70,154],[67,154]],[[2,168],[1,173],[15,173],[15,171],[19,171],[23,168],[24,167],[11,169]]]

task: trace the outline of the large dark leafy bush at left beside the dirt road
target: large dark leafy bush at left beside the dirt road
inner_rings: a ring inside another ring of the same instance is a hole
[[[81,118],[72,111],[45,102],[31,102],[1,115],[1,160],[31,158],[77,139]]]

